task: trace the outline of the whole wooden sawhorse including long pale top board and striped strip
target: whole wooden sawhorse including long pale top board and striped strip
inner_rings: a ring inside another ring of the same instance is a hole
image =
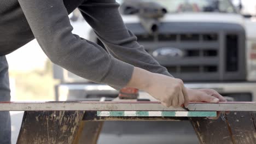
[[[255,102],[190,103],[189,112],[159,102],[10,102],[0,107],[2,111],[25,111],[17,141],[22,144],[94,144],[104,121],[188,120],[201,143],[256,143]],[[205,117],[216,111],[230,114],[217,120]]]

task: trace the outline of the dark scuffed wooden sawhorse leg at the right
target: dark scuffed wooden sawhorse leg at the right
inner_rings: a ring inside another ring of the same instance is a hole
[[[256,143],[254,112],[230,112],[217,120],[189,118],[201,143]]]

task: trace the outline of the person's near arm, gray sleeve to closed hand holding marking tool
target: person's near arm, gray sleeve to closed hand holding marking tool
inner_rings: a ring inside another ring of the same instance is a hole
[[[166,106],[177,106],[183,99],[187,104],[181,80],[133,67],[110,56],[102,47],[72,34],[73,28],[62,0],[18,1],[34,37],[54,63],[95,82],[116,88],[144,89]],[[179,99],[181,94],[183,99]]]

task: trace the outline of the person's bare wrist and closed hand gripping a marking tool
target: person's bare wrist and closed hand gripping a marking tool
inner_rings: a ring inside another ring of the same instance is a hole
[[[126,87],[141,89],[167,107],[178,107],[182,104],[187,107],[189,103],[187,89],[181,79],[151,73],[138,67],[134,67],[131,80]]]

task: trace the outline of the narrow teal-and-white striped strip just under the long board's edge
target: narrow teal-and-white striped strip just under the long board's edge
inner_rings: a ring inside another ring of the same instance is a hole
[[[216,117],[216,111],[97,111],[98,117]]]

